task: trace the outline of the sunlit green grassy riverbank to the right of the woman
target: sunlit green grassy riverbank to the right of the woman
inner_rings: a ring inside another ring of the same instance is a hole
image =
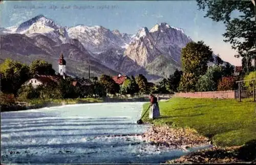
[[[154,125],[189,127],[210,138],[216,146],[240,146],[256,139],[255,103],[221,99],[173,98],[160,102],[161,117],[144,122]],[[144,105],[144,111],[148,104]]]

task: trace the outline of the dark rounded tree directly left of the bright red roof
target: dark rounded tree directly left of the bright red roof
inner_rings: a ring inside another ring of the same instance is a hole
[[[103,89],[106,93],[116,95],[119,92],[120,86],[108,75],[102,75],[100,82],[103,85]]]

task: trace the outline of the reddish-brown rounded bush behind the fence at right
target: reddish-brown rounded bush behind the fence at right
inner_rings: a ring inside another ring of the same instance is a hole
[[[235,86],[236,81],[232,76],[223,77],[218,84],[217,90],[223,91],[223,90],[233,90]]]

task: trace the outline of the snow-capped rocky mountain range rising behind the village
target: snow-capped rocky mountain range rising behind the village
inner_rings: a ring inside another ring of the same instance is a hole
[[[143,27],[133,35],[102,26],[61,27],[43,15],[18,27],[0,28],[0,34],[0,50],[12,55],[46,55],[53,60],[63,53],[67,67],[68,59],[95,64],[94,69],[98,70],[95,76],[141,73],[150,80],[167,77],[176,68],[181,69],[181,49],[192,41],[182,29],[167,23],[157,24],[150,30]],[[87,66],[80,67],[76,67],[77,72],[86,73],[84,67]]]

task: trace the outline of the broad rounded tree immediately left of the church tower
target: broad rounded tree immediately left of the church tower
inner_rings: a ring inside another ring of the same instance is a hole
[[[29,68],[31,75],[55,75],[55,70],[52,68],[52,64],[45,60],[34,60]]]

